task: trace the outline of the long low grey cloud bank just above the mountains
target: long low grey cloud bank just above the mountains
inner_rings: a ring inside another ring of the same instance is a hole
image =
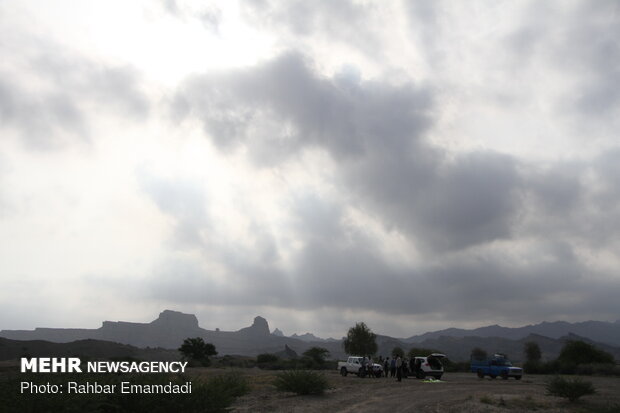
[[[382,257],[376,241],[348,223],[334,203],[308,196],[298,199],[292,212],[293,230],[304,247],[290,270],[273,256],[220,241],[208,248],[217,251],[211,258],[225,264],[223,276],[199,261],[174,260],[145,283],[148,293],[184,305],[439,312],[453,321],[493,319],[498,312],[544,319],[620,310],[615,300],[600,302],[618,281],[592,273],[561,241],[533,246],[535,253],[525,260],[482,252],[409,268]]]

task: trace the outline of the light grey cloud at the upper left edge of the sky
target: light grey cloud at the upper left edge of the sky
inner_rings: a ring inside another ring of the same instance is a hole
[[[99,111],[129,118],[148,113],[149,102],[132,68],[110,67],[35,43],[35,52],[14,57],[25,69],[0,76],[0,120],[18,130],[29,147],[52,148],[66,135],[87,141],[89,118]]]

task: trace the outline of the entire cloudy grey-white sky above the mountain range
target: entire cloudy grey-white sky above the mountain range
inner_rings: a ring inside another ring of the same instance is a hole
[[[620,317],[620,3],[0,1],[0,328]]]

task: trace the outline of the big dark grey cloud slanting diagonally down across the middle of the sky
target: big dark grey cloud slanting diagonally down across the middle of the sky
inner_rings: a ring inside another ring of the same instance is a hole
[[[321,148],[362,208],[422,246],[465,248],[510,236],[518,207],[515,161],[491,152],[449,159],[427,143],[430,91],[351,85],[317,75],[297,54],[262,67],[190,81],[177,99],[221,148],[279,158]],[[179,110],[177,110],[179,111]]]

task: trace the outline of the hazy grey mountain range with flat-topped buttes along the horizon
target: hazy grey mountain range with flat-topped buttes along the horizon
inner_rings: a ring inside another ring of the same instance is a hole
[[[237,331],[201,328],[193,314],[165,310],[150,323],[104,321],[97,329],[36,328],[34,330],[2,330],[0,337],[12,340],[45,340],[69,343],[78,340],[103,340],[137,348],[177,349],[187,337],[202,337],[215,345],[220,355],[256,356],[261,353],[301,354],[313,346],[326,348],[332,358],[345,357],[342,339],[323,339],[311,333],[286,337],[279,329],[270,332],[263,317]],[[497,325],[472,330],[450,328],[409,338],[377,336],[378,354],[389,355],[394,347],[405,351],[411,347],[436,349],[454,361],[469,359],[472,348],[480,347],[492,354],[507,353],[514,361],[522,359],[527,341],[539,344],[543,359],[557,357],[568,340],[583,340],[620,359],[620,322],[587,321],[582,323],[544,322],[519,328]]]

